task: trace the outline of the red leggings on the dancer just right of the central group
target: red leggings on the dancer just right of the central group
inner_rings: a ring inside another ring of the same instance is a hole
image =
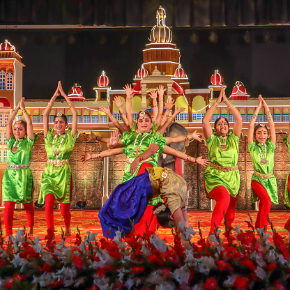
[[[208,194],[217,202],[211,217],[211,229],[209,233],[212,234],[215,227],[220,227],[224,213],[227,219],[227,227],[231,227],[235,219],[237,197],[231,197],[224,186],[217,186]]]

